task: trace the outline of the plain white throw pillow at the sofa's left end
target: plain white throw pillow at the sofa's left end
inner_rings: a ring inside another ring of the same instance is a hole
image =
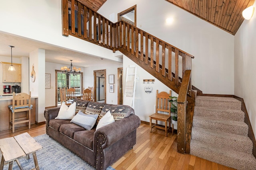
[[[72,119],[76,113],[76,102],[69,107],[66,104],[60,106],[58,116],[55,119]]]

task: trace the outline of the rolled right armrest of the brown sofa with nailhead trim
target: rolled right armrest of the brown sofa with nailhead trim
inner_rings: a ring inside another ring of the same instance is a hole
[[[96,153],[97,138],[99,135],[104,135],[105,142],[102,143],[101,148],[106,149],[116,141],[122,139],[140,126],[140,118],[137,115],[130,115],[129,117],[120,119],[101,127],[94,133],[93,150]]]

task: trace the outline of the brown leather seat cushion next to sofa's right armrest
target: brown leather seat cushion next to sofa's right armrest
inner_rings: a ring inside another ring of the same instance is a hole
[[[92,149],[95,128],[90,131],[78,131],[74,133],[74,140]]]

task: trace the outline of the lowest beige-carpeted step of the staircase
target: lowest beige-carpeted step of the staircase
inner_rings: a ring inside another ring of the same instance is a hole
[[[256,167],[256,158],[252,153],[220,148],[194,139],[190,142],[190,154],[236,169],[254,170]]]

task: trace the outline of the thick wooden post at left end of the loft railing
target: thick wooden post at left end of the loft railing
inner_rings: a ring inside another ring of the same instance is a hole
[[[68,0],[62,0],[62,35],[68,36]]]

